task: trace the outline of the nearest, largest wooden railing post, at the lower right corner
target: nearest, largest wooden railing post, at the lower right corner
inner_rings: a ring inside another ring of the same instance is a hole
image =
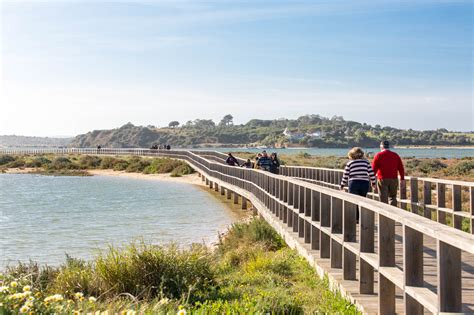
[[[438,240],[438,309],[461,312],[461,250]]]

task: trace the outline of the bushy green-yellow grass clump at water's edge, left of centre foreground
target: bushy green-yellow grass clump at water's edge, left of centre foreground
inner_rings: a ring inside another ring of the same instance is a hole
[[[123,250],[110,248],[96,260],[97,275],[110,294],[130,293],[140,298],[204,297],[214,284],[209,250],[194,245],[131,244]]]

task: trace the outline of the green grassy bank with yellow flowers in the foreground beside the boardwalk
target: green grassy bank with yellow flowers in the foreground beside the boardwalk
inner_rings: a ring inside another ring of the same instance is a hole
[[[0,276],[0,313],[357,313],[264,221],[232,226],[215,249],[130,244],[91,262],[20,264]]]

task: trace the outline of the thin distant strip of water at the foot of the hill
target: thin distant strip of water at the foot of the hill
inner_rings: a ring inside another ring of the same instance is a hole
[[[261,152],[262,149],[245,149],[245,148],[216,148],[220,152]],[[277,152],[278,154],[298,154],[305,152],[311,155],[320,156],[347,156],[349,149],[327,149],[327,148],[291,148],[291,149],[267,149],[268,152]],[[364,148],[365,152],[378,152],[379,148]],[[432,148],[397,148],[393,149],[402,157],[417,158],[463,158],[474,157],[474,148],[452,148],[452,149],[432,149]]]

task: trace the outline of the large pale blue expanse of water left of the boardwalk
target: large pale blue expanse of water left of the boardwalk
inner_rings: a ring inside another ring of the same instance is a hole
[[[0,269],[89,259],[108,244],[211,243],[238,218],[199,187],[111,176],[0,175]]]

